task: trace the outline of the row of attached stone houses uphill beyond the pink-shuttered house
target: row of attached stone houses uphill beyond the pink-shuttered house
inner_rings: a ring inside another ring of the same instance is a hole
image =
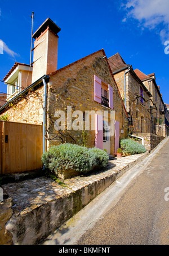
[[[152,150],[167,136],[163,124],[163,100],[155,74],[146,76],[140,70],[134,70],[119,53],[108,61],[129,117],[130,136],[137,136],[142,142],[144,140],[146,149]],[[149,81],[149,86],[146,81]]]

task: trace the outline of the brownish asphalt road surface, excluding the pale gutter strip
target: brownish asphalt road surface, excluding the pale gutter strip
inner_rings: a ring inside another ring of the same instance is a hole
[[[74,244],[168,245],[167,191],[169,140],[148,162],[143,172],[127,186],[117,204],[110,205],[106,213]]]

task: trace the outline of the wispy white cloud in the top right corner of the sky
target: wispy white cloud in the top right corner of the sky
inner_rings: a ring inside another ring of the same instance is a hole
[[[168,0],[127,0],[122,5],[127,11],[127,18],[134,18],[149,29],[155,29],[162,41],[169,39],[169,1]]]

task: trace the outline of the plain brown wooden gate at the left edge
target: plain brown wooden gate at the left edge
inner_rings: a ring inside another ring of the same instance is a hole
[[[41,169],[42,125],[0,121],[0,174]]]

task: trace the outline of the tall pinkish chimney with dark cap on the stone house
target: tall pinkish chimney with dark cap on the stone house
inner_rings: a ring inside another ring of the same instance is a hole
[[[50,19],[45,22],[33,34],[33,72],[32,83],[45,74],[56,71],[57,69],[57,46],[60,28]]]

